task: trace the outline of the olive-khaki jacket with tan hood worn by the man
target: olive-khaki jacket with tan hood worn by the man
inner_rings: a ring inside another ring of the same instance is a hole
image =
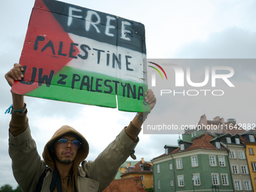
[[[125,129],[102,151],[94,161],[85,161],[89,152],[89,145],[84,136],[71,126],[62,126],[44,147],[43,158],[38,155],[35,141],[32,139],[26,114],[12,114],[10,130],[23,126],[24,131],[18,136],[9,133],[9,155],[12,159],[14,178],[24,192],[34,192],[41,174],[46,170],[46,175],[41,191],[49,192],[50,184],[55,184],[54,160],[50,146],[67,133],[78,136],[81,147],[75,157],[72,168],[72,191],[74,185],[77,191],[102,191],[117,174],[120,165],[131,155],[134,157],[136,143],[127,136]],[[129,126],[133,126],[131,123]],[[81,164],[81,166],[79,166]],[[47,166],[47,169],[46,169]],[[55,184],[55,190],[56,190]]]

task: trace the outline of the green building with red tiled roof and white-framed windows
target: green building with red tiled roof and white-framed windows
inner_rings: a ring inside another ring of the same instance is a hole
[[[165,154],[153,162],[154,192],[233,191],[228,151],[210,134],[179,146],[165,145]]]

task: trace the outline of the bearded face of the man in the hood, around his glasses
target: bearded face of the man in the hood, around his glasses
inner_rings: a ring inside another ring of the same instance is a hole
[[[65,148],[62,148],[58,141],[55,142],[54,152],[56,160],[59,163],[70,164],[75,160],[75,157],[78,154],[78,148],[72,148],[71,145],[71,142],[77,140],[77,138],[71,134],[67,134],[62,136],[61,139],[68,139],[69,143]]]

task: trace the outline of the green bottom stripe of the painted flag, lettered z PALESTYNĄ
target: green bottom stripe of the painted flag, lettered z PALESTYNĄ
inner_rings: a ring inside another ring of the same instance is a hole
[[[120,111],[148,112],[149,105],[143,105],[146,90],[147,86],[139,82],[66,66],[53,76],[49,87],[42,84],[26,96],[116,108],[117,95]]]

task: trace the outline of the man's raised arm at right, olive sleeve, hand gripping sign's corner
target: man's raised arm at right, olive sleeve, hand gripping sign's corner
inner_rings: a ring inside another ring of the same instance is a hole
[[[151,110],[156,104],[156,98],[152,90],[147,90],[145,100],[151,106]],[[140,113],[143,117],[143,114]],[[144,118],[148,114],[144,114]],[[143,119],[142,119],[143,120]],[[142,130],[143,121],[137,115],[131,123],[120,132],[116,139],[102,151],[95,161],[84,162],[83,168],[89,178],[99,181],[99,191],[105,189],[114,179],[120,165],[129,157],[136,158],[134,148],[139,141],[138,135]],[[104,171],[102,172],[102,170]]]

